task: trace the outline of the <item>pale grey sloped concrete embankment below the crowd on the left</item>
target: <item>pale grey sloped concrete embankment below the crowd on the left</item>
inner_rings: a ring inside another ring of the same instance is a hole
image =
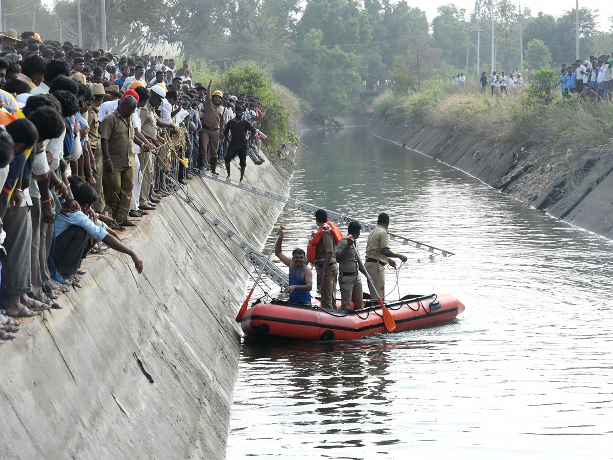
[[[270,162],[247,174],[287,192],[289,174]],[[190,193],[261,247],[281,205],[204,181],[189,182]],[[82,289],[61,297],[63,310],[45,312],[0,350],[0,458],[225,458],[240,343],[234,318],[251,266],[174,197],[128,244],[142,256],[142,275],[109,251]]]

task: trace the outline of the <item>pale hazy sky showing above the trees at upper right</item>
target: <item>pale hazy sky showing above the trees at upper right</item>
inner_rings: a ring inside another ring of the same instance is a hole
[[[474,9],[474,0],[455,0],[455,1],[434,1],[434,2],[424,2],[417,0],[407,0],[409,6],[417,7],[425,11],[428,21],[432,21],[432,18],[435,17],[438,13],[436,9],[440,5],[447,5],[453,3],[458,9],[464,8],[466,9],[466,13],[470,15]],[[514,2],[517,2],[514,0]],[[576,0],[528,0],[526,2],[521,2],[522,9],[524,6],[530,8],[532,15],[536,16],[539,11],[542,11],[547,14],[551,14],[554,16],[559,16],[563,12],[568,10],[574,10],[576,7]],[[585,2],[579,0],[579,8],[588,7],[592,10],[600,10],[598,13],[598,29],[602,31],[608,31],[611,28],[609,21],[609,17],[613,16],[613,6],[611,1],[606,0],[592,0],[590,2]]]

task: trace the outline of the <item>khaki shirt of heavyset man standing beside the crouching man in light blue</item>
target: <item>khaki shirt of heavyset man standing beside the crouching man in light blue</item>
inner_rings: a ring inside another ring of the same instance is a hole
[[[134,126],[132,117],[125,120],[119,109],[109,113],[100,123],[100,137],[109,142],[111,162],[116,166],[134,166]]]

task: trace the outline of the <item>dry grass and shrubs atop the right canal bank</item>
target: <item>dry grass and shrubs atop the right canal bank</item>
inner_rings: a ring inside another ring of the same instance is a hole
[[[378,118],[392,123],[424,124],[474,133],[500,147],[525,144],[539,151],[537,163],[569,161],[613,144],[611,102],[570,99],[552,93],[546,102],[535,91],[514,91],[495,97],[478,88],[431,81],[420,93],[392,94],[375,108]]]

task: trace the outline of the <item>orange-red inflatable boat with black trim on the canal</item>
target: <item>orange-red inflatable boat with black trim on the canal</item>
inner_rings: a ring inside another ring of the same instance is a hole
[[[465,308],[451,294],[406,296],[386,306],[397,324],[396,331],[446,323]],[[319,299],[314,299],[313,305],[278,300],[256,302],[243,314],[240,325],[251,337],[300,340],[359,339],[387,332],[379,305],[357,311],[329,310],[321,308]]]

